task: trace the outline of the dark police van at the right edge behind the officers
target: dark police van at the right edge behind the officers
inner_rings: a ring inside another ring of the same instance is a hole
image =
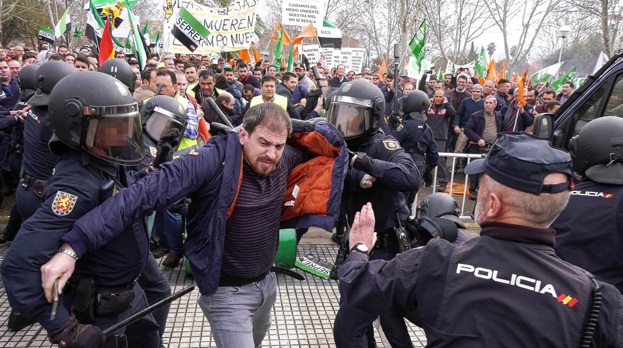
[[[623,50],[589,75],[556,113],[538,115],[533,134],[549,139],[557,148],[568,149],[569,139],[601,116],[623,118]]]

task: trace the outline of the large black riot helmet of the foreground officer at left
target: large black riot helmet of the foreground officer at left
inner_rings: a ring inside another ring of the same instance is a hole
[[[116,78],[101,72],[71,74],[50,93],[48,110],[52,153],[58,154],[65,144],[115,164],[143,160],[138,103]]]

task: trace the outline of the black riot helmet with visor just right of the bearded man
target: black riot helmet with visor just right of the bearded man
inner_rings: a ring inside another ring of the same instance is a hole
[[[328,99],[328,121],[340,131],[347,144],[361,143],[381,128],[385,98],[368,80],[359,78],[348,82]]]

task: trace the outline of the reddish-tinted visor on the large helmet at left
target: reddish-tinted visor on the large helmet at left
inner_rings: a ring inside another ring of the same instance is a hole
[[[138,105],[87,106],[82,148],[97,158],[122,166],[145,157]]]

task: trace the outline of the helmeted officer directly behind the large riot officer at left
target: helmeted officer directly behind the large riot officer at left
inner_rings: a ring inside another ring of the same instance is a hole
[[[65,76],[77,72],[65,62],[45,62],[37,68],[37,90],[28,100],[32,105],[24,121],[23,174],[17,187],[17,210],[27,220],[39,209],[47,179],[52,175],[58,156],[48,143],[52,127],[48,118],[48,101],[52,88]]]

